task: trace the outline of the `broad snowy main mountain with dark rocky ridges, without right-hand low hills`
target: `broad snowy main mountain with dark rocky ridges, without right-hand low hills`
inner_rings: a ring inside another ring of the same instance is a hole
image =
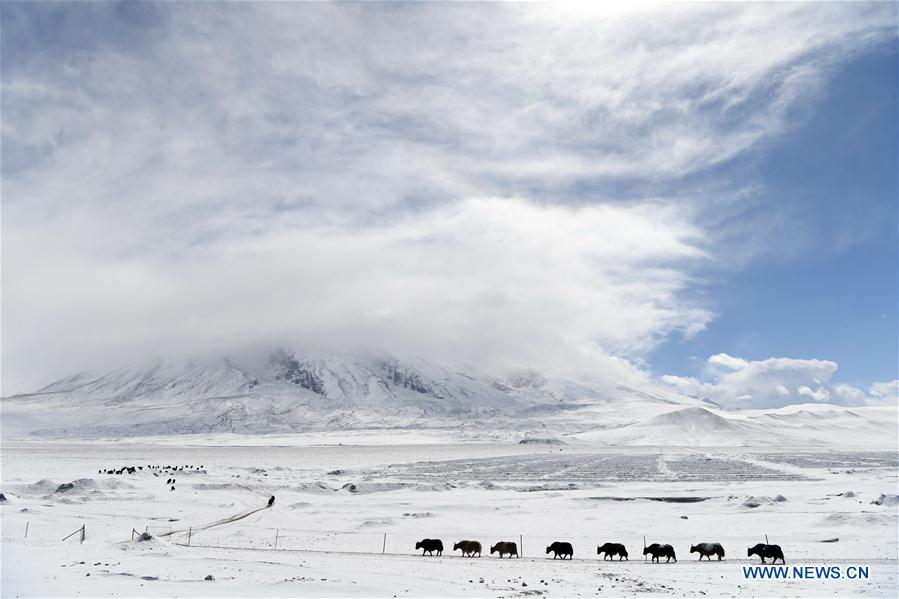
[[[483,427],[558,430],[596,426],[587,408],[695,400],[533,372],[500,380],[426,358],[297,354],[265,360],[156,361],[82,373],[3,400],[4,434],[118,436],[286,433],[355,428]],[[608,410],[601,410],[608,412]],[[616,410],[617,411],[617,410]],[[608,419],[616,425],[635,421]],[[584,420],[584,418],[588,420]]]

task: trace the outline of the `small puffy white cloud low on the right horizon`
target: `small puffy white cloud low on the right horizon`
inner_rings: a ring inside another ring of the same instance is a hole
[[[803,401],[860,406],[895,398],[896,385],[877,383],[866,394],[851,385],[833,382],[836,371],[836,362],[830,360],[768,358],[752,361],[716,354],[706,361],[701,378],[673,375],[661,378],[688,395],[741,408],[781,407]]]

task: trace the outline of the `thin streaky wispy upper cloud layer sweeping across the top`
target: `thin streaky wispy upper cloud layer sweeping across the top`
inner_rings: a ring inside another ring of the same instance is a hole
[[[11,29],[40,9],[5,10],[26,12]],[[183,3],[74,49],[25,53],[8,35],[13,201],[221,214],[199,235],[310,204],[611,199],[783,133],[831,65],[893,24],[868,4],[644,10]]]

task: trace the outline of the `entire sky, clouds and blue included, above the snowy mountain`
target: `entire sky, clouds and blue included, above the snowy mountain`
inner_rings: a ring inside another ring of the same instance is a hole
[[[288,344],[895,403],[896,13],[4,2],[0,392]]]

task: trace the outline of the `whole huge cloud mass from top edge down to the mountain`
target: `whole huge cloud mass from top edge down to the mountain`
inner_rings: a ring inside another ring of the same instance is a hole
[[[4,392],[279,339],[637,372],[711,318],[703,223],[745,198],[680,183],[894,28],[877,4],[0,9]]]

